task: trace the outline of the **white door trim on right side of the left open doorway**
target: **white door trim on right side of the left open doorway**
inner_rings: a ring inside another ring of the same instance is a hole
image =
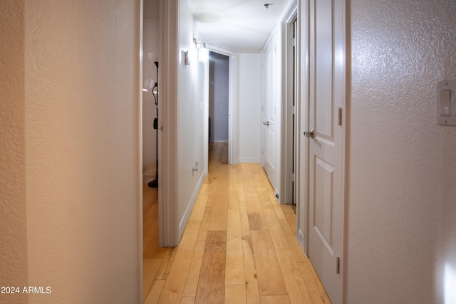
[[[158,117],[158,243],[162,247],[177,246],[177,60],[179,37],[177,0],[160,0],[160,104]],[[167,174],[165,174],[167,172]],[[166,203],[166,204],[165,204]]]

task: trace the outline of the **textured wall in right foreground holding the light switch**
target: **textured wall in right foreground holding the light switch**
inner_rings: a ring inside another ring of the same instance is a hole
[[[456,127],[436,125],[435,96],[438,81],[456,78],[456,2],[348,4],[346,303],[450,303]]]

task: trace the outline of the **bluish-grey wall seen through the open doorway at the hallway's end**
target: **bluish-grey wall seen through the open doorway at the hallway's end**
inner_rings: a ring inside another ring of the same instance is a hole
[[[229,57],[211,53],[209,61],[209,117],[211,142],[228,142]]]

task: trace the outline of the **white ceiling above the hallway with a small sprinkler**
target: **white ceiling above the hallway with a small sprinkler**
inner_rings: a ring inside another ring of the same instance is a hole
[[[157,0],[145,0],[145,19]],[[202,42],[237,53],[260,53],[288,0],[187,0]],[[264,4],[272,4],[268,9]],[[149,9],[151,8],[151,9]],[[150,13],[149,13],[150,12]]]

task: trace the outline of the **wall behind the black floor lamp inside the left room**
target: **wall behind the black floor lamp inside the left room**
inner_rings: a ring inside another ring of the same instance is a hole
[[[144,19],[142,39],[142,79],[152,78],[157,81],[157,67],[147,54],[158,55],[160,50],[158,19]],[[158,61],[158,58],[157,58]],[[160,66],[160,65],[159,65]],[[143,83],[144,85],[144,83]],[[160,100],[158,100],[160,103]],[[142,93],[142,182],[147,184],[155,179],[157,169],[157,130],[153,121],[157,114],[152,90]]]

